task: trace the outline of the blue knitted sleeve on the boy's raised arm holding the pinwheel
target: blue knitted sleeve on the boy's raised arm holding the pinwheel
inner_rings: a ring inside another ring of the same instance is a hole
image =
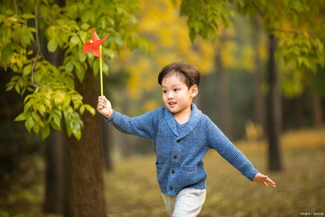
[[[105,120],[122,133],[152,139],[158,127],[159,113],[159,109],[154,109],[131,118],[113,110],[112,117]]]

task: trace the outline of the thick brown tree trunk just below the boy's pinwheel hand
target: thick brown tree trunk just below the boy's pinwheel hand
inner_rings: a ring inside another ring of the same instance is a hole
[[[98,87],[90,68],[82,84],[76,80],[76,90],[83,102],[96,108]],[[100,143],[99,121],[87,111],[82,115],[84,128],[77,141],[68,139],[67,159],[67,209],[65,216],[105,216],[105,191],[103,181],[103,152]]]

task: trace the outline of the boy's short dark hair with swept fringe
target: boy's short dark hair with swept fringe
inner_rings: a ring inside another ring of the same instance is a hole
[[[176,73],[181,81],[183,81],[186,86],[191,88],[194,84],[196,84],[199,87],[200,80],[201,80],[201,74],[199,70],[189,64],[184,63],[172,63],[170,65],[165,66],[163,69],[160,70],[158,75],[158,83],[161,86],[161,82]]]

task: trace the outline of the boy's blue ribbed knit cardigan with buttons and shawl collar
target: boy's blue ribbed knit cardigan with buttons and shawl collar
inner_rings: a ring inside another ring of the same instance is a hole
[[[173,113],[166,107],[133,118],[113,110],[112,117],[105,119],[123,133],[153,141],[157,181],[164,194],[177,195],[184,188],[206,189],[207,172],[202,159],[209,148],[215,149],[252,180],[258,171],[244,154],[195,104],[191,104],[191,109],[186,129],[181,135],[177,132]]]

